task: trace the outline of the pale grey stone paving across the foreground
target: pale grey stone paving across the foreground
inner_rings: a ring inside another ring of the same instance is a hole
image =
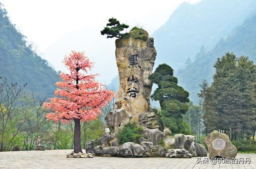
[[[72,150],[0,152],[0,169],[256,169],[256,154],[238,154],[250,157],[250,164],[196,164],[191,159],[173,158],[66,158]]]

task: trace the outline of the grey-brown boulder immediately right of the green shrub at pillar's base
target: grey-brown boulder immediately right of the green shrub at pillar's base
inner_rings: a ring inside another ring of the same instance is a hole
[[[157,145],[159,141],[163,140],[164,134],[159,129],[143,129],[143,137],[147,138],[147,141],[152,142],[153,145]]]

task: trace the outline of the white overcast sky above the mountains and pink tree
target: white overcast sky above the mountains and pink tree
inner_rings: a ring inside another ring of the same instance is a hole
[[[108,18],[152,34],[184,1],[200,0],[0,0],[12,23],[56,71],[65,71],[61,61],[70,50],[85,51],[95,62],[92,73],[106,84],[118,74],[114,38],[100,35]]]

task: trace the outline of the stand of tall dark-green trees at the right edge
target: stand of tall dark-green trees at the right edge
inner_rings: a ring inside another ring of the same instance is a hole
[[[254,139],[256,131],[256,65],[226,53],[214,64],[213,82],[205,80],[199,97],[207,133],[218,130],[231,140]]]

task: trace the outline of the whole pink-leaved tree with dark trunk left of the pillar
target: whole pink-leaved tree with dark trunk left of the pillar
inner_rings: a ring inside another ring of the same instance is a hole
[[[74,152],[82,153],[80,138],[80,122],[91,121],[98,117],[101,108],[114,96],[114,92],[104,89],[104,85],[97,82],[96,75],[87,75],[92,68],[92,62],[83,52],[74,52],[64,58],[64,64],[68,67],[70,74],[61,73],[62,82],[57,82],[60,87],[55,95],[60,97],[50,98],[44,107],[51,109],[46,117],[58,122],[74,120]],[[85,73],[85,74],[83,74]]]

